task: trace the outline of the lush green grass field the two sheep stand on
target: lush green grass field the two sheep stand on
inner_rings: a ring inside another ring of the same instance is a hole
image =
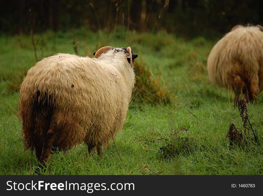
[[[137,64],[143,64],[171,92],[170,104],[130,103],[123,130],[104,148],[104,157],[85,159],[86,145],[51,155],[43,174],[124,175],[258,175],[263,173],[263,93],[247,105],[257,135],[246,136],[239,147],[226,138],[229,124],[242,129],[234,94],[213,86],[206,61],[217,40],[184,40],[160,31],[156,34],[117,31],[47,31],[35,35],[37,58],[62,52],[92,57],[105,45],[131,46]],[[24,152],[17,117],[18,87],[36,63],[31,37],[0,37],[0,174],[35,174],[35,154]],[[135,73],[136,74],[136,73]],[[230,98],[230,102],[228,101]],[[117,149],[116,149],[117,147]],[[117,153],[120,154],[120,157]],[[120,160],[121,159],[121,160]]]

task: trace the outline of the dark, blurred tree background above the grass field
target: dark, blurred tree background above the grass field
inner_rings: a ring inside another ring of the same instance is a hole
[[[185,38],[217,37],[237,24],[263,25],[260,0],[0,0],[0,31],[164,29]]]

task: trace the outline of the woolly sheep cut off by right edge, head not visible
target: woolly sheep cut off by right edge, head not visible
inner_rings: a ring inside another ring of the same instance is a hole
[[[212,48],[207,69],[211,82],[232,88],[238,97],[241,89],[249,100],[263,90],[263,27],[236,25]]]

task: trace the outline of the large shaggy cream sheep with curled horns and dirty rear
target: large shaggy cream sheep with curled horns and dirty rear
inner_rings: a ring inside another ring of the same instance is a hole
[[[103,156],[123,127],[135,83],[130,47],[100,48],[94,58],[55,54],[31,67],[20,85],[18,116],[25,151],[35,150],[38,164],[52,149],[67,152],[86,143]]]

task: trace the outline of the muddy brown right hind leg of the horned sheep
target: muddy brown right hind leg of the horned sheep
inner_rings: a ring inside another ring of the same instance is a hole
[[[41,157],[39,159],[39,162],[44,166],[49,161],[51,149],[53,146],[53,142],[55,139],[55,135],[53,132],[53,129],[48,130],[48,133],[46,135],[45,142],[43,144]]]

